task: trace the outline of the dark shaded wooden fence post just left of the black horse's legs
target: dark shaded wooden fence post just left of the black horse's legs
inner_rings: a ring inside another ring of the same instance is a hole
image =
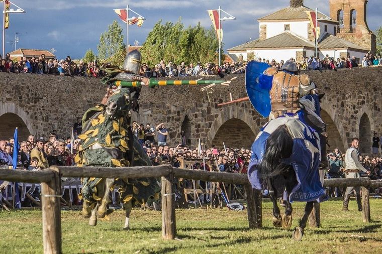
[[[251,185],[245,185],[249,228],[262,227],[261,191],[253,190]]]

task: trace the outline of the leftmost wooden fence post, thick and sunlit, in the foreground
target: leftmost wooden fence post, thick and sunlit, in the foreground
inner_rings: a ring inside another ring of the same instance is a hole
[[[41,209],[44,253],[61,254],[61,178],[56,167],[49,182],[41,183]]]

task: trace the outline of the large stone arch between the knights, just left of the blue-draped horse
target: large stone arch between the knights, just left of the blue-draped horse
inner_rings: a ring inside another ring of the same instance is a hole
[[[248,127],[246,129],[247,131],[250,130],[253,134],[253,139],[250,140],[251,144],[254,141],[255,135],[259,132],[257,122],[254,120],[253,115],[248,109],[238,107],[238,106],[228,106],[223,108],[218,117],[213,121],[211,125],[210,131],[207,133],[207,141],[206,144],[208,147],[211,147],[213,145],[213,141],[215,136],[217,135],[219,129],[223,126],[224,123],[229,121],[230,119],[236,119],[238,124],[242,128]],[[232,122],[228,122],[228,124],[231,124]],[[231,125],[225,125],[225,126],[231,126]],[[224,127],[224,126],[223,126]],[[239,129],[239,128],[238,128]],[[249,137],[246,138],[249,140]],[[223,144],[214,144],[218,147],[222,146]],[[239,146],[242,146],[241,144],[238,144]]]

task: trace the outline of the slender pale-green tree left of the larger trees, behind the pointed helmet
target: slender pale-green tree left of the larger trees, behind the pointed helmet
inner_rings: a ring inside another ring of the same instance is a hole
[[[114,55],[120,54],[126,45],[123,43],[124,36],[122,34],[122,27],[117,21],[113,21],[108,27],[108,31],[105,31],[100,36],[100,43],[97,45],[98,56],[102,61],[114,59]],[[112,63],[116,64],[116,63]]]

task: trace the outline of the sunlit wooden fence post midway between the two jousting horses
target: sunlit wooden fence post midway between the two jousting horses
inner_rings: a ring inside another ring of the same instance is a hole
[[[173,240],[176,235],[175,193],[172,172],[162,176],[162,237]]]

